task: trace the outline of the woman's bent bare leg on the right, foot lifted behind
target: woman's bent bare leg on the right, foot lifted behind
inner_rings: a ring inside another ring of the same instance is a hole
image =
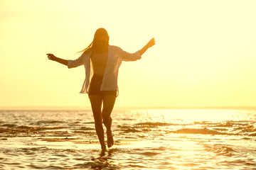
[[[107,128],[107,147],[112,147],[114,145],[114,140],[112,136],[112,118],[110,117],[112,110],[114,108],[114,102],[116,97],[112,95],[103,97],[103,109],[102,109],[102,118],[105,127]]]

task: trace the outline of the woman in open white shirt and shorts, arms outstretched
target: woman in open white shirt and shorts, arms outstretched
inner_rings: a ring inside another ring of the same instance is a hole
[[[82,50],[82,55],[76,60],[63,60],[53,54],[47,54],[49,60],[65,64],[68,68],[85,66],[85,81],[80,93],[88,94],[92,106],[92,113],[95,119],[95,129],[100,140],[102,152],[105,152],[104,130],[102,120],[107,129],[107,147],[114,145],[112,137],[110,117],[118,95],[117,76],[122,61],[135,61],[149,47],[155,45],[152,38],[143,48],[134,53],[125,52],[120,47],[109,45],[107,30],[99,28],[95,32],[92,43]],[[103,108],[102,108],[103,103]]]

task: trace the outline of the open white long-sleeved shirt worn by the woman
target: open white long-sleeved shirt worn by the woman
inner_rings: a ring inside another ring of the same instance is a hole
[[[85,81],[82,84],[81,94],[87,94],[90,88],[90,81],[93,75],[92,62],[90,56],[92,51],[83,53],[76,60],[68,60],[68,68],[78,67],[82,64],[85,66]],[[118,69],[122,64],[122,61],[136,61],[141,59],[142,56],[139,51],[134,53],[125,52],[120,47],[109,45],[108,47],[108,59],[105,69],[105,73],[102,79],[101,91],[118,91],[117,77]]]

